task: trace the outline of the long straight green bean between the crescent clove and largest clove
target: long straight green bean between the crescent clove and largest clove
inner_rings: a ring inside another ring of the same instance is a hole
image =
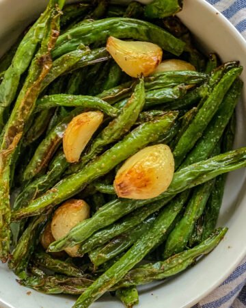
[[[61,180],[54,188],[51,188],[44,196],[40,196],[32,201],[28,207],[14,211],[13,220],[18,220],[27,216],[40,214],[42,211],[55,206],[77,192],[83,190],[85,184],[88,184],[98,177],[107,174],[124,159],[130,157],[139,149],[157,140],[161,134],[165,133],[172,126],[172,123],[178,116],[177,112],[172,112],[160,117],[153,122],[140,125],[120,142],[103,153],[95,162],[88,164],[77,174],[70,175]],[[110,163],[109,163],[110,162]]]

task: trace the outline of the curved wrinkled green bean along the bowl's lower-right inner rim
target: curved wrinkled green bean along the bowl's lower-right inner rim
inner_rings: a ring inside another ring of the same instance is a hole
[[[210,251],[213,251],[219,242],[221,242],[227,230],[227,228],[218,228],[211,233],[209,238],[192,249],[182,251],[182,253],[169,257],[169,259],[165,261],[134,268],[126,274],[120,283],[114,285],[114,288],[143,285],[154,280],[161,280],[178,274],[178,272],[193,265],[196,259],[201,255],[206,255],[210,253]]]

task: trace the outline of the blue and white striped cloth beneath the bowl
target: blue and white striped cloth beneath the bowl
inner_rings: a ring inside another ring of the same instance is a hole
[[[207,0],[246,39],[246,0]],[[246,258],[215,291],[193,308],[246,308]]]

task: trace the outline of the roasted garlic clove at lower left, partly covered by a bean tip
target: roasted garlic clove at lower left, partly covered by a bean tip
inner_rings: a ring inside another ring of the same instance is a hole
[[[63,238],[79,222],[90,217],[90,207],[83,200],[70,199],[55,211],[51,231],[55,240]],[[70,257],[78,257],[79,245],[65,248]]]

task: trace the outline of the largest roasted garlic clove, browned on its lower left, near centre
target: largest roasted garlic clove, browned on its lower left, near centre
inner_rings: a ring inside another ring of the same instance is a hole
[[[149,199],[167,190],[174,175],[169,146],[148,146],[128,158],[118,170],[113,186],[121,198]]]

